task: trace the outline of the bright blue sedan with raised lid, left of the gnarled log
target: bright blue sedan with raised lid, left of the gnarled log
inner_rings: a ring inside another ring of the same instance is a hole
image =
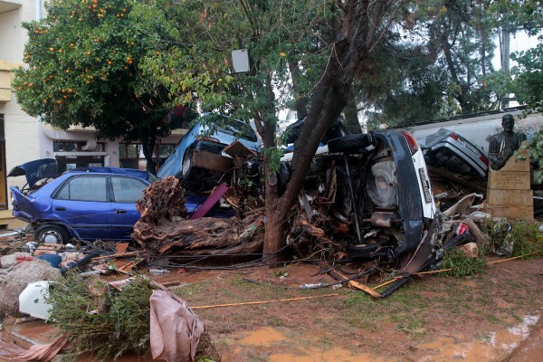
[[[55,164],[54,159],[32,161],[9,174],[28,181],[23,190],[10,189],[14,217],[33,226],[34,240],[129,240],[140,216],[135,202],[157,177],[137,169],[82,167],[52,178]],[[44,175],[52,181],[42,186]],[[197,206],[186,202],[188,213]]]

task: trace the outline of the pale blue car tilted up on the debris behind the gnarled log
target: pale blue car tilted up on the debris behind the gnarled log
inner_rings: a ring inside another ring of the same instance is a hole
[[[157,176],[176,176],[189,191],[216,186],[232,162],[223,155],[223,149],[235,140],[256,153],[261,150],[259,138],[247,123],[206,113],[177,143]]]

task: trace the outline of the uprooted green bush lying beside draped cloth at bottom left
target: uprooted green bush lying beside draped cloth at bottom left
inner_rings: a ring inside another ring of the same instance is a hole
[[[75,360],[93,352],[104,360],[128,352],[148,353],[152,294],[148,278],[138,275],[122,292],[106,288],[100,281],[92,284],[90,289],[88,280],[68,273],[50,291],[50,319],[62,333],[70,334],[72,342],[66,357]]]

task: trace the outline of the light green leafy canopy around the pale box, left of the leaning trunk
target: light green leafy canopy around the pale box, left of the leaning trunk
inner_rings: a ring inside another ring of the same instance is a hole
[[[307,96],[319,80],[328,59],[319,50],[328,46],[323,35],[328,35],[329,5],[317,0],[181,3],[177,24],[183,26],[177,27],[184,47],[149,52],[141,66],[153,77],[139,90],[165,87],[172,102],[197,100],[205,111],[274,124],[277,110],[293,97]],[[321,30],[322,25],[327,26]],[[252,71],[234,74],[232,51],[243,48],[251,53]]]

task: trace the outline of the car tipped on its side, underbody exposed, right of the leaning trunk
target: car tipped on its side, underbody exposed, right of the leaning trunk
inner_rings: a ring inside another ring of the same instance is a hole
[[[405,131],[330,139],[306,180],[308,194],[336,190],[324,202],[331,202],[338,222],[348,224],[351,257],[396,260],[414,252],[436,211],[422,149]]]

